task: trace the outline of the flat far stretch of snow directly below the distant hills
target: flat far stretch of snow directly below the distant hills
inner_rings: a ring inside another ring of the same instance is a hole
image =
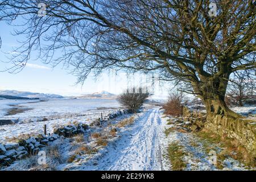
[[[28,103],[29,102],[29,103]],[[116,100],[110,99],[52,99],[48,101],[15,101],[15,100],[0,100],[0,119],[40,119],[49,116],[82,114],[88,110],[95,110],[100,107],[112,107],[117,109],[119,104]],[[23,113],[15,115],[4,115],[7,109],[16,107],[31,108]]]

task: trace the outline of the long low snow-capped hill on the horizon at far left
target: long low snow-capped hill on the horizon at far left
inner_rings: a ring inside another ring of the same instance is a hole
[[[33,93],[33,92],[21,92],[17,90],[0,90],[0,95],[14,96],[14,97],[27,97],[27,98],[64,98],[57,94],[46,93]]]

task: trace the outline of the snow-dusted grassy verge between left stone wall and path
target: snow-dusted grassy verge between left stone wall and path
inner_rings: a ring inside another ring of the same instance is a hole
[[[125,118],[129,118],[131,114],[121,115],[115,119],[110,120],[112,125],[122,121]],[[86,131],[84,134],[84,140],[77,141],[76,136],[73,138],[60,138],[55,140],[54,142],[50,143],[49,146],[42,148],[43,151],[46,151],[47,157],[47,164],[46,165],[39,165],[37,160],[39,156],[30,156],[29,158],[23,160],[16,160],[10,167],[2,168],[0,170],[70,170],[71,168],[79,168],[81,164],[91,158],[97,158],[101,156],[104,151],[104,147],[97,146],[95,143],[95,139],[89,137],[90,134],[98,132],[98,133],[105,133],[106,129],[109,129],[109,123],[103,123],[101,127],[98,126],[91,126],[89,130]],[[121,129],[123,130],[123,129]],[[112,140],[118,140],[119,137],[114,137]],[[73,155],[78,155],[77,152],[81,152],[79,149],[80,147],[89,146],[91,148],[96,149],[98,152],[90,152],[90,154],[84,154],[77,159],[74,159],[69,162],[69,158]],[[53,149],[57,148],[57,150]],[[48,152],[49,151],[49,152]],[[94,164],[94,163],[93,163]]]

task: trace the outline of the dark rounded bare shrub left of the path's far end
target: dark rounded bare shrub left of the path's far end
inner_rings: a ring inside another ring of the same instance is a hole
[[[136,92],[135,90],[138,91]],[[132,92],[127,90],[126,92],[121,93],[117,100],[122,106],[129,109],[131,113],[135,113],[143,105],[148,96],[148,93],[142,93],[142,88],[133,88]]]

